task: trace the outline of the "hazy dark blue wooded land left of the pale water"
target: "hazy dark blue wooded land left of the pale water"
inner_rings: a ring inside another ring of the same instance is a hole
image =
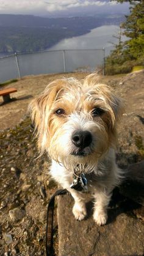
[[[46,50],[62,39],[81,36],[106,24],[119,25],[123,20],[121,14],[71,18],[0,14],[0,53]]]

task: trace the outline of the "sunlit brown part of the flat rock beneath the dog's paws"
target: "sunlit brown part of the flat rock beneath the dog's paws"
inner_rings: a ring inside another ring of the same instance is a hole
[[[58,198],[59,256],[143,256],[142,221],[124,211],[121,203],[109,208],[107,224],[101,227],[93,220],[90,204],[88,217],[77,222],[73,203],[69,195]]]

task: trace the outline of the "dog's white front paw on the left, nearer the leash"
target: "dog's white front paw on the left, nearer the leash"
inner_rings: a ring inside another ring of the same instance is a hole
[[[85,208],[85,204],[77,204],[75,203],[73,206],[73,214],[76,220],[82,220],[87,216],[87,211]]]

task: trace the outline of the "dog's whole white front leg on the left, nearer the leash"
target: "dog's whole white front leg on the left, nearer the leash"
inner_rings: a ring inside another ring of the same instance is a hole
[[[74,189],[68,189],[74,198],[73,214],[76,220],[82,220],[87,216],[84,195]]]

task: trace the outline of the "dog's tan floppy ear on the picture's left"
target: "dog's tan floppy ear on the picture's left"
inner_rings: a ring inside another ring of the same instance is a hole
[[[48,119],[52,104],[59,97],[62,83],[59,80],[50,83],[45,91],[29,104],[28,111],[31,115],[32,124],[35,127],[35,134],[38,138],[38,148],[41,153],[48,147],[49,130]]]

